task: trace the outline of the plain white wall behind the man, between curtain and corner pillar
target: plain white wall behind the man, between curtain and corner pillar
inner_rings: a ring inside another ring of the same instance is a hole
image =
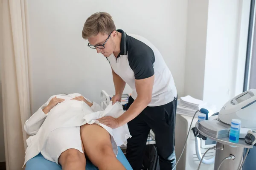
[[[29,0],[32,111],[53,94],[81,93],[99,102],[114,94],[108,61],[81,37],[85,20],[110,13],[117,28],[140,34],[163,55],[183,96],[188,0]],[[129,88],[125,92],[131,92]]]

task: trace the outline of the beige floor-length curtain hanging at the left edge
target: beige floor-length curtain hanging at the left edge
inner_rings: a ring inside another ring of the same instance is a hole
[[[24,163],[30,117],[29,43],[26,0],[1,0],[3,46],[1,80],[6,170],[20,170]]]

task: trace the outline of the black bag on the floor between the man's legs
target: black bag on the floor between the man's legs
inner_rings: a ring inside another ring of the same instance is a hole
[[[157,149],[154,144],[146,145],[143,156],[143,168],[144,170],[160,170]]]

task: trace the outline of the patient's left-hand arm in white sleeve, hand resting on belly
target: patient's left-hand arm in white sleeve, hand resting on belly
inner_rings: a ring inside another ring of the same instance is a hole
[[[58,103],[63,102],[64,99],[58,99],[56,96],[51,99],[49,104],[44,103],[41,108],[38,109],[26,122],[24,125],[24,130],[28,135],[35,135],[41,125],[43,124],[44,120],[47,117],[47,113]]]

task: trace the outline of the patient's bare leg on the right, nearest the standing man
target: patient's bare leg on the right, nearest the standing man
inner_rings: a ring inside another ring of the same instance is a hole
[[[111,137],[103,127],[85,124],[80,128],[84,152],[99,170],[125,170],[113,152]]]

